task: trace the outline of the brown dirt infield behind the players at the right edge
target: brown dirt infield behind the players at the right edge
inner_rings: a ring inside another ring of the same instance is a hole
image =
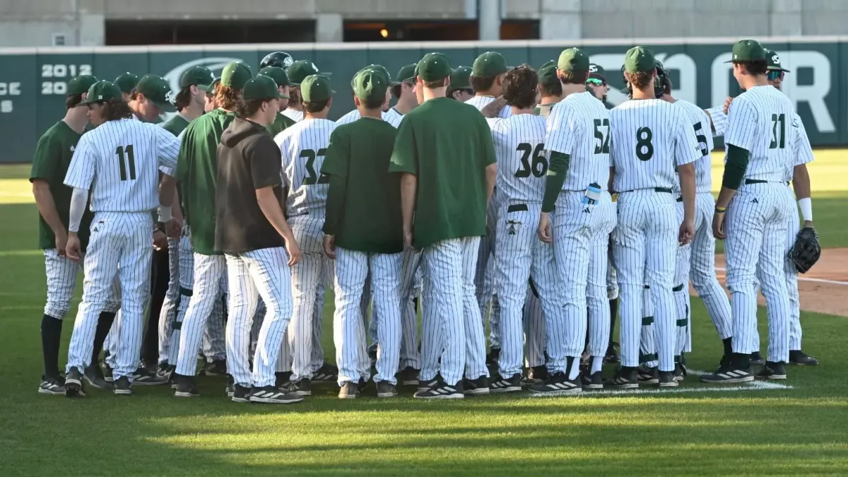
[[[724,283],[724,255],[716,255],[719,283]],[[822,250],[822,258],[798,276],[801,310],[848,317],[848,249]],[[694,292],[693,292],[694,293]],[[760,295],[760,305],[765,299]]]

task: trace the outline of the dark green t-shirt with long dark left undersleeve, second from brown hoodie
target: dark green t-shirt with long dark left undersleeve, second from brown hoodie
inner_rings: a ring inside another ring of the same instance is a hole
[[[360,118],[330,136],[321,173],[330,176],[324,233],[343,249],[378,254],[404,251],[400,176],[388,172],[398,130]]]

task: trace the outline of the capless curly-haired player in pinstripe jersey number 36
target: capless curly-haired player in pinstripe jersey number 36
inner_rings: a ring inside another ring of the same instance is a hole
[[[564,321],[553,247],[538,241],[533,230],[541,213],[544,176],[548,170],[544,157],[545,119],[533,115],[538,86],[536,72],[527,65],[519,66],[507,72],[503,85],[506,104],[511,108],[510,117],[489,120],[498,160],[497,188],[502,194],[494,259],[495,289],[501,306],[501,348],[499,374],[493,376],[489,386],[492,392],[522,390],[525,331],[522,306],[527,297],[533,296],[528,293],[530,278],[538,290],[544,315],[538,313],[528,317],[539,317],[538,321],[543,323],[543,316],[552,317],[553,323]],[[544,325],[527,324],[527,327],[538,329]],[[544,344],[544,337],[539,341]],[[532,342],[527,334],[528,347],[533,348]],[[536,348],[544,348],[544,345]]]

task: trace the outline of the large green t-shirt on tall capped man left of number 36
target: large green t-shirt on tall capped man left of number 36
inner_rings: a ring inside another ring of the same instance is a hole
[[[477,108],[434,98],[412,109],[394,141],[391,172],[418,177],[415,246],[486,234],[492,132]]]

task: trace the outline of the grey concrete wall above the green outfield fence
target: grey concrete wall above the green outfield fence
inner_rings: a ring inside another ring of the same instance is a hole
[[[505,19],[538,20],[542,39],[848,35],[848,0],[479,0]],[[0,0],[0,47],[102,45],[104,20],[316,19],[320,41],[343,21],[466,19],[475,0]]]

